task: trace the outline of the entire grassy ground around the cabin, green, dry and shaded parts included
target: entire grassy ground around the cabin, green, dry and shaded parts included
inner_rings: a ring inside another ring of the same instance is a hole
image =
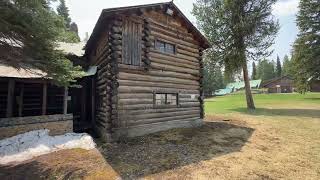
[[[206,99],[198,128],[0,167],[0,179],[320,179],[320,93]]]

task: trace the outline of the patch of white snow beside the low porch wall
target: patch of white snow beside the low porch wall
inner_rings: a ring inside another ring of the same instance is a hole
[[[0,140],[0,164],[21,162],[62,149],[90,150],[95,146],[92,137],[86,133],[50,136],[47,129],[30,131]]]

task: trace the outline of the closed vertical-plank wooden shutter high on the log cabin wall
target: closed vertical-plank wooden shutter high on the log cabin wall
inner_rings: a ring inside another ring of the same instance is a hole
[[[142,24],[125,19],[122,33],[122,63],[139,66],[141,61]]]

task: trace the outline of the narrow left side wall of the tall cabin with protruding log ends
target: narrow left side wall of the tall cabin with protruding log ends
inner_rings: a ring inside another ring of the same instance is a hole
[[[117,88],[118,61],[121,58],[122,20],[108,20],[96,47],[90,54],[92,65],[98,66],[96,75],[95,130],[106,141],[112,140],[114,125],[118,121]]]

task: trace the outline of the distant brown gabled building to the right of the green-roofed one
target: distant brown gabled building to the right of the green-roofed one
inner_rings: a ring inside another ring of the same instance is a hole
[[[268,89],[268,93],[292,93],[294,91],[293,79],[289,76],[281,76],[263,82],[263,88]]]

